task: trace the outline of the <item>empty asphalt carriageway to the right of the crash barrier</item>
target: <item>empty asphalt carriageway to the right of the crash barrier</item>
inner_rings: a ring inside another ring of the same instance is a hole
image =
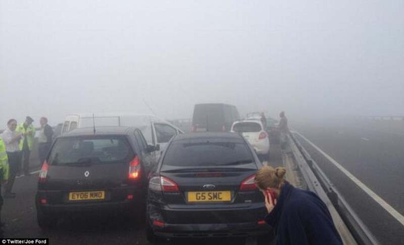
[[[404,215],[404,135],[349,126],[293,126]],[[307,141],[299,141],[382,244],[404,244],[401,223]]]

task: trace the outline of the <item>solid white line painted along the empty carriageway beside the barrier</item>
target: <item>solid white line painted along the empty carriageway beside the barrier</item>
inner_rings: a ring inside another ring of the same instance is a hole
[[[330,157],[327,153],[321,150],[318,146],[313,144],[310,140],[306,137],[302,136],[301,134],[297,133],[302,139],[307,141],[311,146],[313,146],[316,150],[318,150],[321,154],[323,154],[332,164],[334,164],[339,170],[341,170],[348,178],[354,181],[358,187],[360,187],[366,194],[368,194],[375,202],[377,202],[380,206],[382,206],[393,218],[395,218],[401,225],[404,226],[404,216],[398,213],[393,207],[391,207],[386,201],[384,201],[381,197],[379,197],[376,193],[370,190],[364,183],[361,182],[358,178],[356,178],[353,174],[351,174],[348,170],[346,170],[341,164],[335,161],[332,157]]]

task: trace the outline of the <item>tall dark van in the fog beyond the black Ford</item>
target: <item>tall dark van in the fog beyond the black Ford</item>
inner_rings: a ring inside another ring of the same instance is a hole
[[[191,132],[229,132],[240,114],[234,105],[196,104],[193,109]]]

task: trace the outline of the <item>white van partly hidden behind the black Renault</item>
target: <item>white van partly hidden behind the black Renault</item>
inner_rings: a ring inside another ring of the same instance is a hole
[[[94,113],[94,118],[92,113],[70,114],[65,118],[61,133],[64,134],[77,128],[93,127],[93,124],[95,124],[95,129],[97,126],[127,126],[140,129],[147,144],[159,145],[160,151],[156,151],[157,159],[173,136],[184,133],[155,115],[137,113]]]

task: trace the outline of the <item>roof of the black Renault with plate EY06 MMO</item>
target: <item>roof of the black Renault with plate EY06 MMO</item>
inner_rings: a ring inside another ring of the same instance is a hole
[[[60,136],[63,137],[72,137],[72,136],[88,136],[88,135],[128,135],[129,132],[134,131],[135,127],[118,127],[118,126],[103,126],[103,127],[95,127],[95,134],[94,128],[79,128],[73,131],[70,131],[66,134]]]

